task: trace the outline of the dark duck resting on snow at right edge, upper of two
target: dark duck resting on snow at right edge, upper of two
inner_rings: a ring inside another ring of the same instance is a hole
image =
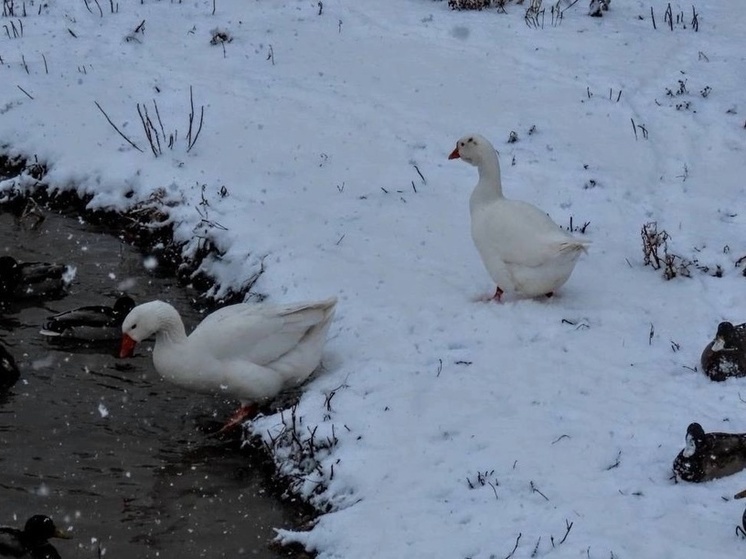
[[[702,370],[715,381],[746,376],[746,324],[718,324],[715,339],[702,352]]]

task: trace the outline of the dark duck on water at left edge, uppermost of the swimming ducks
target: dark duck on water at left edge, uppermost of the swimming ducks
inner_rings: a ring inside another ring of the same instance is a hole
[[[0,299],[59,297],[75,277],[66,264],[19,262],[0,256]]]

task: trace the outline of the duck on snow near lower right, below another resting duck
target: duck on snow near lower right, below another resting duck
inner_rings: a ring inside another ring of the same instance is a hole
[[[677,479],[700,482],[725,477],[746,468],[746,434],[705,433],[699,423],[686,430],[686,447],[673,461]]]

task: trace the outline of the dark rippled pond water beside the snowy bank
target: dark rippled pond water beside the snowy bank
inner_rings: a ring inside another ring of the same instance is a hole
[[[187,331],[200,320],[190,294],[149,273],[136,250],[80,220],[45,215],[31,229],[33,220],[0,213],[0,254],[77,267],[66,297],[0,307],[0,340],[21,369],[0,393],[0,524],[52,516],[72,528],[74,539],[52,540],[65,559],[288,556],[268,542],[300,513],[269,494],[266,473],[237,441],[197,429],[237,402],[163,381],[150,342],[120,360],[116,343],[70,347],[39,334],[47,316],[112,304],[122,290],[136,303],[171,302]]]

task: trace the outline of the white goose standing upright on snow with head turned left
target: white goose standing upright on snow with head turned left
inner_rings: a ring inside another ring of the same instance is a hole
[[[536,206],[506,199],[497,152],[483,136],[461,138],[448,156],[457,158],[479,171],[469,199],[471,236],[497,284],[493,298],[500,301],[505,292],[551,296],[570,277],[590,241],[565,232]]]

